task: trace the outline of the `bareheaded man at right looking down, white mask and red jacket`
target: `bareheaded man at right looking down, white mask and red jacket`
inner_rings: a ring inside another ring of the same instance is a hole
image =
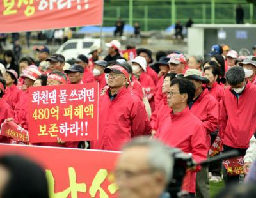
[[[243,156],[256,127],[256,87],[244,77],[241,66],[233,66],[226,73],[230,87],[224,91],[220,118],[224,152],[237,149]],[[225,183],[239,183],[239,176],[225,174]]]

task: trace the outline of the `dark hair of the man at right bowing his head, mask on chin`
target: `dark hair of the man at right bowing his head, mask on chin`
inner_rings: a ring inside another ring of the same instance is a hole
[[[245,73],[241,66],[233,66],[226,73],[226,79],[228,84],[236,86],[244,81]]]

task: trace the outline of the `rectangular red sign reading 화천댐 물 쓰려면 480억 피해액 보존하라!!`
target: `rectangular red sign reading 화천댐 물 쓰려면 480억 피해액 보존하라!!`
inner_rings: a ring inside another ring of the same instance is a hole
[[[31,143],[97,140],[98,84],[29,88]]]

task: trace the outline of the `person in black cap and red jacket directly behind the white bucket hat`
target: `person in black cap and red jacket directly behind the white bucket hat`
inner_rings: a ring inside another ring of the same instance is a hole
[[[147,74],[150,75],[152,80],[154,81],[155,86],[157,85],[158,82],[158,75],[157,73],[149,66],[150,63],[153,63],[152,59],[152,52],[149,49],[146,48],[139,48],[136,49],[137,55],[142,56],[146,59],[147,61]]]

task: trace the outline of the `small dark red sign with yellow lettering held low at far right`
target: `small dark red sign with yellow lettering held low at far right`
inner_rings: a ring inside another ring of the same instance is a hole
[[[244,174],[244,156],[237,156],[235,158],[223,160],[223,165],[227,170],[228,175]]]

